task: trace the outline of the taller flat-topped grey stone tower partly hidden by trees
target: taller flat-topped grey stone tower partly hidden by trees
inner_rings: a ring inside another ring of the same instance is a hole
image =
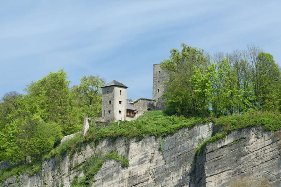
[[[156,110],[165,110],[165,100],[162,99],[162,95],[165,91],[165,86],[162,84],[164,81],[168,81],[168,74],[160,68],[160,64],[153,65],[153,89],[152,99],[156,101]]]

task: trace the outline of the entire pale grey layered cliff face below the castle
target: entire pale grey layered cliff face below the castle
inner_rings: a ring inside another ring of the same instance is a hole
[[[214,133],[214,124],[205,123],[162,139],[120,137],[115,143],[104,139],[93,148],[85,144],[81,153],[75,153],[71,159],[66,154],[59,163],[54,158],[44,161],[41,174],[20,175],[19,180],[12,177],[2,186],[68,187],[75,175],[84,176],[75,166],[83,164],[95,152],[105,155],[112,150],[125,154],[130,166],[122,167],[120,162],[106,160],[92,187],[228,186],[237,175],[245,173],[268,177],[274,185],[281,186],[281,141],[272,132],[258,127],[235,131],[224,140],[205,146],[203,154],[195,156],[195,148]],[[227,146],[238,139],[241,141]]]

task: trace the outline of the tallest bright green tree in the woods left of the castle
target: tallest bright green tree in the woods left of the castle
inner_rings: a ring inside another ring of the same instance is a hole
[[[27,85],[25,98],[34,103],[35,113],[45,122],[56,122],[64,135],[78,132],[82,128],[76,113],[73,113],[73,98],[68,88],[69,80],[63,69],[50,72],[46,77]],[[29,102],[29,103],[31,103]]]

